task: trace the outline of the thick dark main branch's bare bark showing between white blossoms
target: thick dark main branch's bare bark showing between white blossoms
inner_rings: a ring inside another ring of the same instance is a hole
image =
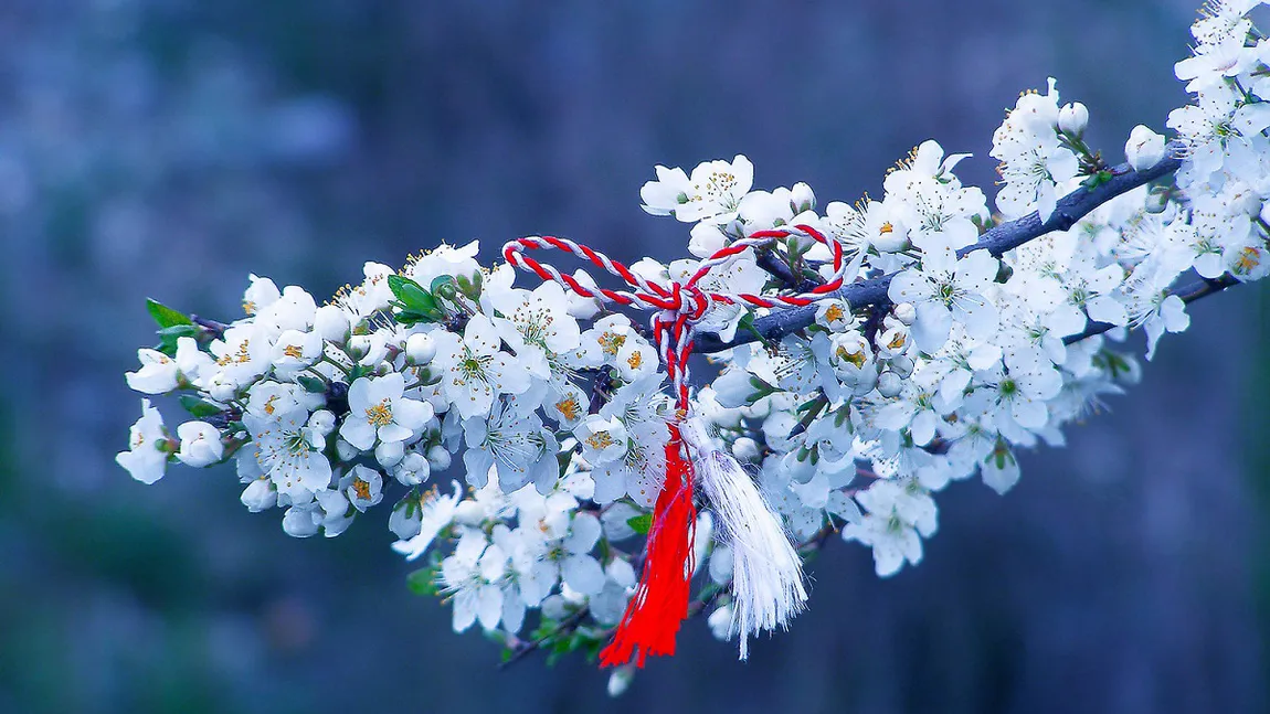
[[[979,241],[958,251],[958,256],[964,256],[975,250],[987,250],[992,255],[1001,257],[1002,254],[1016,249],[1027,241],[1039,238],[1054,231],[1067,231],[1081,218],[1086,217],[1095,208],[1111,200],[1113,198],[1129,193],[1130,190],[1146,185],[1156,179],[1167,176],[1181,167],[1181,145],[1171,143],[1163,160],[1143,171],[1135,171],[1128,164],[1121,164],[1109,169],[1106,180],[1092,188],[1078,188],[1058,200],[1054,214],[1044,223],[1038,213],[1031,213],[1017,221],[1002,223],[983,233]],[[883,275],[871,280],[861,280],[845,285],[836,294],[859,309],[871,304],[885,304],[890,301],[886,290],[890,288],[893,275]],[[735,339],[723,341],[718,335],[702,332],[696,336],[693,351],[720,353],[738,345],[753,342],[762,335],[765,340],[779,341],[781,337],[809,327],[815,322],[814,307],[798,307],[780,309],[766,317],[754,321],[754,331],[737,332]],[[756,335],[757,332],[757,335]]]

